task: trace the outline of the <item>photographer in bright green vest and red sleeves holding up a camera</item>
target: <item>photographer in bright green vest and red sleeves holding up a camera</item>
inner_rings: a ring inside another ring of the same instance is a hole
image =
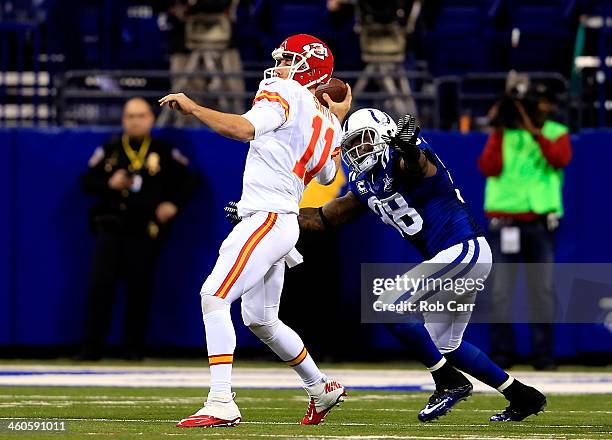
[[[492,358],[514,363],[511,303],[518,264],[525,265],[533,365],[556,368],[553,355],[555,229],[563,215],[563,168],[572,157],[566,126],[550,120],[553,95],[543,85],[493,110],[494,131],[479,158],[487,176],[485,211],[493,260]],[[542,263],[542,264],[534,264]]]

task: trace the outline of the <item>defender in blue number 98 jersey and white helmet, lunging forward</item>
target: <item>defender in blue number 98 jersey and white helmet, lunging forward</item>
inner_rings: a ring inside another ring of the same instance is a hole
[[[492,262],[489,245],[450,173],[419,137],[419,130],[409,115],[398,126],[376,109],[351,115],[342,139],[342,158],[351,171],[350,190],[319,209],[301,209],[300,228],[336,228],[369,207],[425,258],[423,264],[407,273],[409,278],[484,280]],[[475,291],[451,293],[462,304],[474,303]],[[387,304],[395,304],[402,297],[406,297],[404,292],[382,296]],[[409,298],[412,302],[447,301],[448,294],[423,286]],[[472,384],[454,367],[499,390],[509,400],[509,406],[493,415],[491,421],[518,421],[542,411],[546,405],[542,393],[514,379],[480,349],[462,341],[471,307],[457,309],[461,310],[425,312],[425,328],[421,323],[411,323],[404,332],[436,383],[436,391],[419,413],[419,420],[436,419],[471,394]]]

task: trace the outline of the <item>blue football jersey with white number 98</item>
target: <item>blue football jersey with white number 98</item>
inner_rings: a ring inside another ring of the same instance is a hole
[[[394,227],[425,257],[483,235],[440,158],[420,138],[419,147],[436,168],[434,176],[408,186],[387,148],[371,170],[349,174],[349,188],[380,219]]]

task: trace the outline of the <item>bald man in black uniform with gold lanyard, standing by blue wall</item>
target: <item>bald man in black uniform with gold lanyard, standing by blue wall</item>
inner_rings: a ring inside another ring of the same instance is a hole
[[[153,122],[144,99],[127,101],[122,135],[94,151],[82,177],[84,191],[97,201],[90,213],[96,244],[81,359],[103,354],[120,279],[126,287],[125,356],[143,354],[155,265],[194,182],[187,158],[151,137]]]

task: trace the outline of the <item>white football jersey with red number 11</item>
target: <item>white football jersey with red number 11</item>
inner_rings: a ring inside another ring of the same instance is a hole
[[[267,107],[266,111],[274,109],[282,123],[263,134],[255,127],[238,214],[245,216],[254,211],[297,214],[304,188],[313,178],[322,184],[334,178],[336,166],[331,155],[340,147],[342,127],[338,118],[308,89],[291,79],[264,79],[251,112],[259,107]]]

